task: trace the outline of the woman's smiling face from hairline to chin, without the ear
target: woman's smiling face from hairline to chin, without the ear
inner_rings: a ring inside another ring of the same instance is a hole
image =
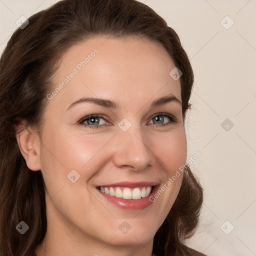
[[[98,36],[65,52],[39,137],[47,232],[152,244],[182,175],[166,182],[186,161],[174,67],[163,46],[145,38]]]

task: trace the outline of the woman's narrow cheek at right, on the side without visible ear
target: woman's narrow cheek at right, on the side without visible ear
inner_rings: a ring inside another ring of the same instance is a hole
[[[158,204],[156,208],[164,219],[176,199],[183,178],[182,170],[187,153],[185,132],[180,128],[173,133],[159,133],[152,144],[155,145],[155,155],[161,165],[161,176],[165,178],[151,200]]]

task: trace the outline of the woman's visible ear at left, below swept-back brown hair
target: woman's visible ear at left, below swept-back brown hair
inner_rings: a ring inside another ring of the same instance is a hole
[[[24,125],[18,125],[18,127]],[[19,150],[23,155],[26,165],[30,170],[40,170],[40,142],[38,134],[29,127],[23,128],[16,133]]]

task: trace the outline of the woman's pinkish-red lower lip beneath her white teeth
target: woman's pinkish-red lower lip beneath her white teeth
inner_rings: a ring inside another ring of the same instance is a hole
[[[152,202],[149,200],[149,197],[154,194],[154,191],[156,191],[158,187],[159,185],[154,186],[149,195],[141,197],[140,199],[124,199],[122,197],[116,197],[106,193],[102,193],[97,188],[96,189],[106,200],[110,201],[117,207],[122,209],[138,210],[146,208],[152,204]]]

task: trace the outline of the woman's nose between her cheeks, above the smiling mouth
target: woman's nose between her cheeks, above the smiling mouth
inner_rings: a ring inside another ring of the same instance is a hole
[[[152,165],[153,153],[149,148],[149,138],[140,128],[135,129],[134,126],[127,131],[118,131],[113,158],[117,167],[140,171]]]

